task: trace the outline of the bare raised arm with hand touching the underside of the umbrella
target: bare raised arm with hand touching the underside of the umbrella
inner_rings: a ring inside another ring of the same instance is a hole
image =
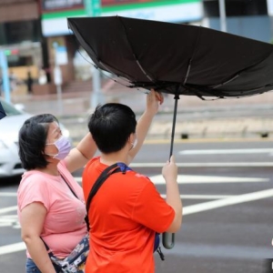
[[[129,163],[132,162],[134,157],[136,157],[137,152],[142,147],[145,137],[147,136],[147,132],[151,123],[153,121],[154,116],[156,116],[159,105],[163,104],[163,96],[160,93],[157,93],[154,89],[152,89],[147,95],[147,107],[142,116],[140,116],[136,125],[136,138],[137,144],[136,147],[132,148],[129,151]]]

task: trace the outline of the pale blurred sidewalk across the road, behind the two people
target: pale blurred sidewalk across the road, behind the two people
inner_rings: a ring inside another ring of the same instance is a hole
[[[146,107],[146,95],[130,88],[102,92],[101,103],[118,102],[130,106],[139,116]],[[69,129],[74,140],[87,132],[87,117],[92,92],[56,95],[14,96],[13,103],[23,104],[25,111],[36,114],[51,113]],[[170,139],[175,100],[165,96],[163,106],[154,119],[147,138]],[[197,96],[180,96],[177,103],[176,139],[273,137],[273,92],[246,98],[203,101]]]

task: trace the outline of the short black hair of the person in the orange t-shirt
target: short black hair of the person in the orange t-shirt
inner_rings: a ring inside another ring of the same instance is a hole
[[[88,121],[89,132],[97,148],[104,154],[117,152],[136,132],[136,115],[129,106],[108,103],[96,106]]]

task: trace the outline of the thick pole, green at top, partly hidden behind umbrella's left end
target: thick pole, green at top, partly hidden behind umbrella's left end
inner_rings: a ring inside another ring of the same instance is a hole
[[[97,17],[101,13],[100,0],[85,0],[86,15],[88,17]],[[90,96],[90,107],[95,109],[96,106],[102,101],[101,97],[101,86],[100,86],[100,75],[99,70],[96,68],[92,69],[93,75],[93,94]]]

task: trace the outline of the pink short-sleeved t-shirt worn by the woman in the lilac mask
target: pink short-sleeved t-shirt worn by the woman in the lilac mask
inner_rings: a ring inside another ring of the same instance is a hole
[[[18,217],[21,221],[21,211],[27,205],[42,203],[47,214],[41,237],[56,257],[65,258],[86,235],[86,205],[82,187],[76,183],[64,162],[58,164],[58,170],[79,199],[61,176],[26,171],[17,191]],[[27,251],[26,255],[30,257]]]

